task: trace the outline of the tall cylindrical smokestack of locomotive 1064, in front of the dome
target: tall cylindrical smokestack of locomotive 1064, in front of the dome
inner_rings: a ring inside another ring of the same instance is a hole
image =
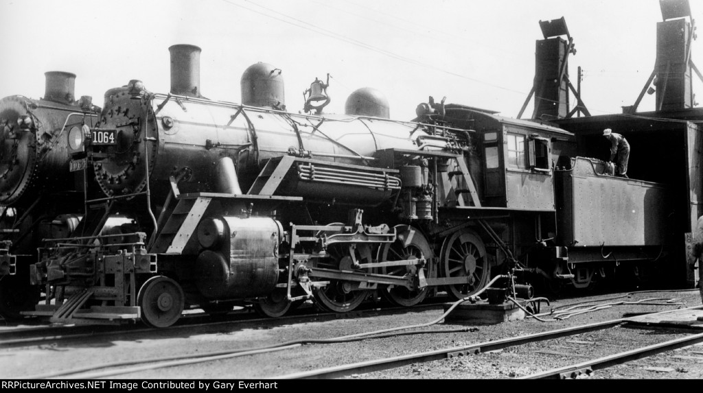
[[[171,52],[171,93],[201,98],[200,48],[195,45],[174,45]]]

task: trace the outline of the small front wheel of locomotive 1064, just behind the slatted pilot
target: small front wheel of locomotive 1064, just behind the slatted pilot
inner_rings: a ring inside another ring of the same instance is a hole
[[[185,305],[183,289],[164,276],[151,277],[141,286],[137,299],[141,320],[155,328],[166,328],[178,321]]]

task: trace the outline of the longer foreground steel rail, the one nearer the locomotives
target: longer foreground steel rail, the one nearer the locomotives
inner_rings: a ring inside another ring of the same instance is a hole
[[[703,306],[688,307],[685,309],[701,308],[703,308]],[[667,314],[670,312],[676,312],[681,310],[682,309],[668,310],[664,312],[654,312],[650,315]],[[304,371],[301,373],[292,373],[288,375],[281,375],[275,377],[275,379],[327,379],[340,378],[351,374],[371,373],[373,371],[388,370],[390,368],[407,366],[408,364],[414,364],[418,362],[449,359],[453,357],[465,356],[467,354],[478,354],[480,352],[489,352],[497,349],[503,349],[506,347],[512,347],[515,345],[527,344],[529,342],[553,340],[555,338],[561,338],[569,335],[588,333],[591,331],[599,331],[619,324],[624,324],[628,321],[631,321],[631,318],[613,319],[611,321],[598,322],[595,324],[562,328],[553,331],[535,333],[531,335],[522,335],[520,337],[515,338],[503,338],[501,340],[479,342],[477,344],[467,345],[464,347],[437,349],[430,352],[421,352],[419,354],[409,354],[399,357],[375,359],[371,361],[362,361],[354,364],[333,366],[312,371]]]

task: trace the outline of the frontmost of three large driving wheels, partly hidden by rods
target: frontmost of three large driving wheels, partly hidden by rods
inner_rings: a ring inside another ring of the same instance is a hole
[[[353,270],[354,261],[344,247],[333,246],[328,250],[330,258],[318,262],[322,269]],[[359,283],[330,279],[330,284],[317,288],[313,295],[317,305],[332,312],[350,312],[361,305],[372,291],[359,290]]]

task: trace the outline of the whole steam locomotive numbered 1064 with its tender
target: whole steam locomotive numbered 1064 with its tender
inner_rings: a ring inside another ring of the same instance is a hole
[[[70,162],[55,168],[81,169],[84,213],[44,239],[28,266],[44,298],[23,314],[165,327],[185,307],[409,307],[496,274],[554,289],[642,278],[671,253],[670,187],[605,174],[565,129],[432,98],[392,120],[369,88],[323,114],[317,79],[316,113],[294,114],[265,63],[243,74],[240,104],[208,100],[200,48],[169,50],[170,93],[132,80],[62,135]]]

